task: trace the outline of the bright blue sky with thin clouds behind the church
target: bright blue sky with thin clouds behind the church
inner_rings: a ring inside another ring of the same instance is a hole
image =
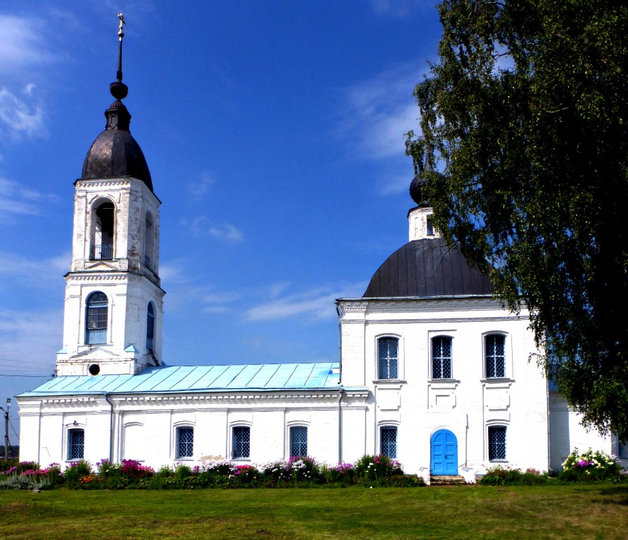
[[[63,345],[73,182],[112,101],[120,11],[162,200],[165,362],[336,361],[333,301],[407,241],[432,2],[23,0],[0,8],[0,375],[41,378],[0,376],[0,404]]]

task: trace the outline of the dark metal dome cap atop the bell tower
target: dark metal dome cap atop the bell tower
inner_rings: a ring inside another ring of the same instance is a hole
[[[133,176],[153,191],[148,164],[136,140],[124,129],[105,129],[85,156],[81,178],[120,176]]]

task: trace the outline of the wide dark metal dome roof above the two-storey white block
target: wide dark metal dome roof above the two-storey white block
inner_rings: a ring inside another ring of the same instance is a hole
[[[412,240],[376,271],[363,298],[492,295],[488,276],[442,238]]]

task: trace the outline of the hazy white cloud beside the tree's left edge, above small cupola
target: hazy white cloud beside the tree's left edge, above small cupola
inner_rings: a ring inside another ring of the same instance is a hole
[[[424,71],[425,66],[404,63],[345,89],[338,136],[361,158],[404,156],[404,134],[418,124],[412,91]]]

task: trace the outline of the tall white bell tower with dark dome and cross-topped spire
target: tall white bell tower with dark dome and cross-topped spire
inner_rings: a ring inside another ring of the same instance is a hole
[[[146,159],[129,132],[122,99],[122,13],[113,103],[105,130],[75,182],[72,262],[65,275],[63,349],[57,375],[135,374],[160,366],[164,290],[159,207]]]

